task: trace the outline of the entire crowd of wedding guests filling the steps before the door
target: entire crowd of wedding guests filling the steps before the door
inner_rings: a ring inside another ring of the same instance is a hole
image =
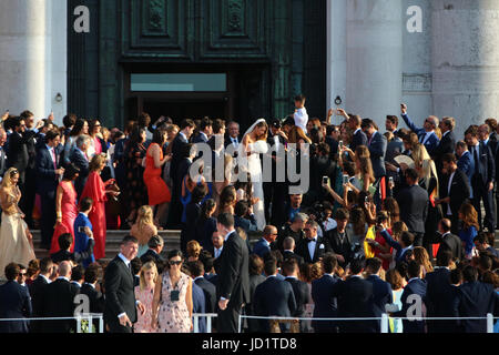
[[[309,118],[305,102],[296,97],[293,114],[243,135],[237,122],[210,118],[177,126],[143,113],[121,132],[73,114],[58,128],[52,115],[6,113],[0,317],[72,316],[83,293],[109,332],[189,333],[196,313],[217,313],[221,333],[237,332],[240,315],[246,332],[376,333],[380,320],[320,318],[384,313],[393,333],[486,332],[486,315],[499,315],[497,121],[458,140],[454,118],[419,128],[401,104],[408,129],[387,115],[380,133],[343,109]],[[296,193],[301,181],[283,166],[304,173],[303,160],[308,189]],[[38,227],[51,255],[41,261]],[[106,264],[112,229],[130,235]],[[163,229],[181,230],[166,258]],[[419,317],[482,320],[415,321],[415,302]],[[0,329],[74,331],[47,322]]]

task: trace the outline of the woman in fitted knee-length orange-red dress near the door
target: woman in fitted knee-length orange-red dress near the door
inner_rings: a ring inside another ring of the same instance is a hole
[[[144,183],[147,187],[150,206],[154,209],[157,205],[154,223],[159,227],[161,227],[161,222],[166,220],[171,201],[170,189],[161,178],[162,166],[172,159],[172,155],[163,155],[163,145],[166,138],[166,131],[156,130],[145,154]]]

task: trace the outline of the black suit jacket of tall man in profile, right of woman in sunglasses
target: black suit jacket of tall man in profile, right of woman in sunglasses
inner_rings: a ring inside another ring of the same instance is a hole
[[[217,298],[230,300],[227,307],[238,308],[249,302],[249,256],[246,243],[236,232],[227,237],[220,258]]]

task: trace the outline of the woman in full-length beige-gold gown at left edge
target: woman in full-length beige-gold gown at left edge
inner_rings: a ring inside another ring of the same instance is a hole
[[[28,265],[35,258],[33,237],[24,222],[24,214],[18,206],[21,191],[18,186],[19,172],[9,169],[0,185],[0,205],[2,207],[2,224],[0,229],[0,275],[10,263]]]

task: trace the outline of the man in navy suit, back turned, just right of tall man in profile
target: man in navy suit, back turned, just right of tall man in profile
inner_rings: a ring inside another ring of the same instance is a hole
[[[277,265],[274,260],[267,260],[264,266],[267,280],[256,286],[253,296],[253,311],[262,317],[291,317],[296,312],[296,300],[291,283],[276,277]],[[259,331],[269,333],[272,320],[261,320]],[[288,328],[283,326],[282,328]]]

